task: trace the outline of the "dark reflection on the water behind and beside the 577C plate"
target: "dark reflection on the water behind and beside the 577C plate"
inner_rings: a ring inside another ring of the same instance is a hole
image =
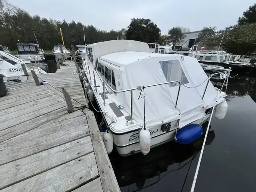
[[[224,80],[211,80],[215,87],[221,88]],[[223,91],[226,87],[224,86]],[[232,100],[234,97],[244,97],[249,95],[254,102],[256,102],[256,78],[247,76],[236,76],[229,78],[227,88],[227,101]]]

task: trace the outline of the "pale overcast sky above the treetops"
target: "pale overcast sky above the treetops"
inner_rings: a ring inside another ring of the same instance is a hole
[[[126,28],[131,18],[149,18],[162,34],[173,26],[201,30],[236,24],[255,0],[7,0],[31,15],[92,24],[101,30]]]

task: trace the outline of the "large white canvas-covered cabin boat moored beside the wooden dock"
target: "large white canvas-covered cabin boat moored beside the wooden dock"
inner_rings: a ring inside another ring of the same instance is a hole
[[[147,154],[152,147],[178,141],[182,130],[199,128],[214,106],[217,120],[226,114],[226,94],[214,88],[195,58],[151,53],[146,43],[133,40],[86,48],[82,74],[90,101],[96,99],[104,117],[108,153],[115,146],[121,156]]]

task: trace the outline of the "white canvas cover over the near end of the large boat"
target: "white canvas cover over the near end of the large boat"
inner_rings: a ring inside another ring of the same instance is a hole
[[[162,82],[180,81],[177,108],[178,83],[145,88],[146,124],[172,122],[180,119],[179,127],[205,116],[206,108],[211,108],[224,100],[209,82],[204,99],[202,95],[208,80],[207,75],[195,58],[148,52],[116,52],[101,57],[120,66],[120,86],[117,90],[128,90],[138,86],[148,86]],[[143,124],[144,102],[133,91],[133,116]],[[118,93],[118,100],[130,112],[130,92]],[[217,102],[216,102],[217,101]]]

